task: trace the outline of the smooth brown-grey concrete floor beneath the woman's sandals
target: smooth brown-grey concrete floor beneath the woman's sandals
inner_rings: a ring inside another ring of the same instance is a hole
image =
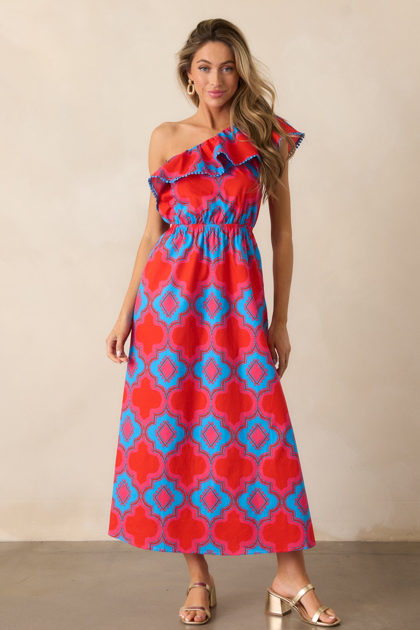
[[[420,543],[318,542],[305,551],[310,580],[341,626],[419,627]],[[181,630],[188,574],[182,554],[121,541],[1,542],[2,630]],[[309,628],[296,612],[264,614],[275,556],[208,556],[217,585],[214,630]]]

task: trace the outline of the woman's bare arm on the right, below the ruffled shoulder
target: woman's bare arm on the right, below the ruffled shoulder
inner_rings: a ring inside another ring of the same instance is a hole
[[[281,147],[283,145],[283,147]],[[287,157],[287,142],[280,143],[283,156]],[[268,347],[278,367],[280,378],[288,365],[290,341],[287,332],[287,311],[292,284],[293,243],[292,219],[290,215],[290,190],[288,183],[288,161],[275,187],[278,199],[268,198],[271,219],[271,244],[273,246],[273,319],[268,328]]]

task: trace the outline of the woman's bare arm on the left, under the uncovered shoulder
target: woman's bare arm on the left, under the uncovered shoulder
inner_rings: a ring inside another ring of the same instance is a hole
[[[149,172],[150,175],[155,173],[165,161],[164,147],[165,133],[164,126],[156,127],[150,136],[149,144]],[[106,353],[114,363],[127,363],[128,357],[124,352],[124,344],[133,323],[133,312],[137,293],[139,292],[140,280],[145,267],[147,258],[149,258],[152,248],[155,246],[169,225],[164,221],[156,210],[156,199],[150,191],[149,210],[147,212],[147,222],[144,233],[140,241],[137,256],[135,258],[134,268],[130,284],[128,285],[127,294],[125,295],[123,305],[116,320],[115,326],[106,338]]]

